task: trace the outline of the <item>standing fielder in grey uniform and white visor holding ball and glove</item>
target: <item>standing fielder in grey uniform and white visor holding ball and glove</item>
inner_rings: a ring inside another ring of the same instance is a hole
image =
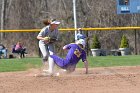
[[[49,57],[49,52],[54,52],[54,42],[59,37],[58,26],[60,22],[44,20],[43,23],[46,26],[41,29],[37,39],[39,40],[39,48],[43,55],[43,63],[45,65]]]

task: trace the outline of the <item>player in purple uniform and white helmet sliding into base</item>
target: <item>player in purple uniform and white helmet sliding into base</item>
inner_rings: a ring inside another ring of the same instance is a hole
[[[79,62],[80,59],[84,62],[86,68],[86,74],[88,73],[88,61],[86,58],[86,52],[84,51],[85,48],[85,40],[80,39],[77,40],[76,43],[71,43],[65,45],[63,50],[68,50],[68,53],[65,58],[61,58],[53,53],[50,53],[49,56],[49,69],[45,70],[48,75],[54,74],[54,66],[55,64],[62,69],[65,69],[67,72],[75,71],[76,64]]]

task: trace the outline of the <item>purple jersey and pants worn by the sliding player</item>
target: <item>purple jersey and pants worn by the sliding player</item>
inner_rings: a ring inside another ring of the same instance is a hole
[[[80,59],[84,62],[86,60],[86,52],[81,49],[77,44],[68,44],[66,45],[68,53],[66,58],[61,58],[56,55],[50,55],[54,59],[54,62],[61,68],[68,68],[69,66],[75,66]]]

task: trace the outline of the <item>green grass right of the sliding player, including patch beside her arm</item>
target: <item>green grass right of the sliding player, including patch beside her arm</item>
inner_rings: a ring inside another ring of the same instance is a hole
[[[131,56],[100,56],[88,57],[89,67],[112,67],[112,66],[137,66],[140,65],[140,55]],[[77,67],[83,67],[79,62]]]

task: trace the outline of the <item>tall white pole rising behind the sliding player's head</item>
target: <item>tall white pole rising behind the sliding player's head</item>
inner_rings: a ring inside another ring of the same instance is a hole
[[[77,29],[77,19],[76,19],[76,0],[73,0],[73,17],[74,17],[74,28]],[[75,40],[77,40],[77,30],[75,30]]]

